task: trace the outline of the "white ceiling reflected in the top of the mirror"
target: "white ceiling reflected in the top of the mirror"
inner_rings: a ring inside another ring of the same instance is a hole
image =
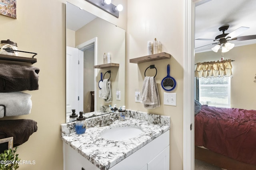
[[[90,21],[97,18],[90,12],[80,9],[73,4],[67,2],[66,6],[66,27],[67,29],[71,29],[73,31],[77,31]]]

